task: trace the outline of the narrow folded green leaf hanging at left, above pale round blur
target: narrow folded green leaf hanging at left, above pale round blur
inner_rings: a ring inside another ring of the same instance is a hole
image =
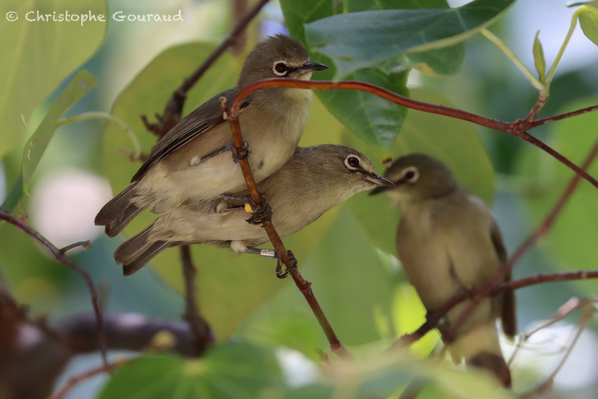
[[[44,155],[44,151],[54,135],[54,130],[58,126],[58,119],[96,84],[97,78],[88,71],[83,69],[77,72],[77,75],[72,78],[65,90],[54,100],[44,119],[25,144],[23,149],[23,190],[25,193],[27,193],[27,187],[33,172],[35,172],[39,160]]]

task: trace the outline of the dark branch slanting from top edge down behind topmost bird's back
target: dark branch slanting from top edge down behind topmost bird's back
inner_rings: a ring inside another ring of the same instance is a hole
[[[226,49],[235,44],[239,39],[239,35],[245,31],[245,28],[254,19],[260,10],[267,4],[269,0],[260,0],[251,10],[247,11],[235,24],[233,31],[227,36],[224,41],[215,48],[210,56],[196,69],[190,77],[186,78],[181,86],[172,93],[172,96],[164,107],[163,116],[156,115],[159,123],[149,123],[147,117],[142,116],[145,127],[153,132],[158,138],[164,136],[175,124],[181,120],[181,112],[185,99],[187,99],[187,92],[197,83],[200,77],[212,66],[214,62],[226,51]]]

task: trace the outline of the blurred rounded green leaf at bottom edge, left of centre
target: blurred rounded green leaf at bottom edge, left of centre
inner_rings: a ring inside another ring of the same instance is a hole
[[[273,351],[225,343],[199,359],[162,354],[133,360],[115,370],[99,399],[267,398],[282,391],[281,381]]]

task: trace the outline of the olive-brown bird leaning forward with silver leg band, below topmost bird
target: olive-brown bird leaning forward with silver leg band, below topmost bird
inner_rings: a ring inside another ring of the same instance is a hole
[[[288,236],[333,206],[377,185],[394,187],[376,174],[364,154],[344,145],[325,144],[297,147],[289,162],[261,181],[258,189],[266,195],[277,232]],[[185,203],[124,242],[114,258],[123,264],[124,275],[132,275],[172,245],[209,243],[235,252],[257,253],[254,246],[269,238],[263,227],[247,223],[242,205],[231,199]]]

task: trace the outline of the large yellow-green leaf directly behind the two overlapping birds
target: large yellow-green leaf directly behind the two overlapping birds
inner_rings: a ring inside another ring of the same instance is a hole
[[[170,94],[209,56],[214,47],[211,44],[192,43],[165,50],[115,100],[112,114],[137,133],[145,153],[155,144],[155,137],[145,130],[139,115],[151,117],[155,112],[162,112]],[[185,103],[184,114],[221,90],[234,86],[241,63],[242,59],[235,59],[230,53],[225,53],[193,87]],[[301,142],[303,145],[338,142],[340,129],[340,124],[321,105],[315,104],[310,111],[307,132]],[[117,125],[108,124],[103,138],[103,164],[115,193],[129,185],[131,176],[141,165],[129,162],[128,157],[121,153],[121,147],[131,147],[129,137]],[[124,233],[127,236],[138,233],[156,217],[157,215],[144,212],[132,221]],[[285,238],[286,246],[293,249],[297,257],[306,257],[318,244],[319,237],[334,217],[334,211],[328,212],[312,226]],[[285,284],[289,284],[274,275],[274,261],[249,254],[239,256],[226,249],[208,245],[194,245],[191,249],[194,263],[199,269],[196,283],[200,309],[210,322],[217,339],[227,339],[248,314],[254,312],[256,307],[270,299]],[[177,248],[167,249],[151,265],[168,284],[179,293],[184,292]]]

